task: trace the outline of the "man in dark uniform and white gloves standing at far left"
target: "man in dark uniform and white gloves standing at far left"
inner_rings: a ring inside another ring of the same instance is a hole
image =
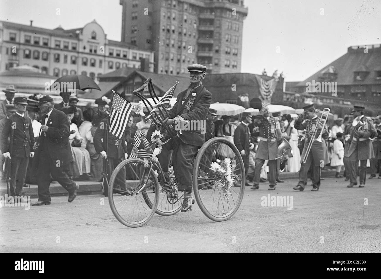
[[[16,114],[9,117],[1,136],[1,150],[5,158],[11,160],[11,195],[22,195],[29,157],[34,156],[33,127],[29,117],[25,117],[26,97],[14,98]],[[10,144],[8,145],[8,136]]]

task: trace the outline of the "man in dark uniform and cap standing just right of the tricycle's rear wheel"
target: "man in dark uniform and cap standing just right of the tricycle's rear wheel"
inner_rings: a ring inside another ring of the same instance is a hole
[[[241,124],[235,129],[234,133],[234,144],[237,146],[238,151],[242,155],[243,165],[245,166],[245,174],[248,173],[249,170],[249,157],[250,157],[250,149],[254,148],[254,144],[250,143],[250,130],[248,125],[253,123],[253,119],[250,116],[250,113],[242,113]],[[252,186],[246,176],[246,186]],[[241,185],[237,185],[241,187]]]

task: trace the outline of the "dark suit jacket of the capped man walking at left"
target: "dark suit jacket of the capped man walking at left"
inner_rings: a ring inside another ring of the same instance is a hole
[[[41,118],[44,125],[45,114]],[[61,166],[66,166],[73,162],[72,152],[70,149],[69,135],[70,125],[67,116],[63,111],[53,108],[46,125],[49,127],[44,133],[41,132],[38,149],[35,156],[39,156],[41,151],[48,151],[51,160],[57,162],[59,160]],[[38,160],[35,160],[38,162]]]

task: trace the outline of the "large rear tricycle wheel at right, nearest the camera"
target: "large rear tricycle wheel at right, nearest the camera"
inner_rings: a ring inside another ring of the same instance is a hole
[[[211,163],[231,159],[231,172],[237,176],[232,187],[226,189],[216,183]],[[199,150],[193,169],[194,195],[201,211],[209,219],[220,222],[230,219],[238,210],[245,191],[245,167],[237,147],[225,138],[212,138]]]

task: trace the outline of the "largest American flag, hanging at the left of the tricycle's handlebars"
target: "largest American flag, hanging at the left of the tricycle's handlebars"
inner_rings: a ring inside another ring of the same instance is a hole
[[[119,97],[114,90],[112,92],[114,92],[114,96],[112,98],[109,132],[120,139],[126,129],[128,119],[130,119],[130,114],[134,107],[125,99]]]

